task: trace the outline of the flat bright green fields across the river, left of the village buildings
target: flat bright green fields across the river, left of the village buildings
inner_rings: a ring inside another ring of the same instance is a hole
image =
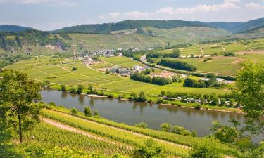
[[[170,84],[166,86],[158,86],[148,84],[141,81],[134,81],[129,77],[120,77],[115,74],[106,74],[97,70],[100,67],[108,67],[112,65],[120,65],[125,67],[132,67],[133,65],[142,65],[142,63],[132,60],[127,57],[113,57],[101,58],[99,65],[91,65],[89,67],[82,65],[80,60],[61,60],[59,58],[36,58],[33,60],[24,60],[14,65],[9,65],[8,68],[13,68],[25,72],[32,79],[38,81],[48,80],[55,88],[59,88],[60,84],[66,84],[68,87],[77,87],[78,84],[84,85],[88,88],[89,85],[94,86],[97,90],[107,89],[109,93],[139,93],[144,91],[146,96],[153,100],[157,100],[158,94],[161,90],[172,92],[186,92],[186,93],[230,93],[225,89],[215,88],[187,88],[183,84]],[[77,67],[73,71],[73,67]],[[161,70],[155,71],[156,73]]]

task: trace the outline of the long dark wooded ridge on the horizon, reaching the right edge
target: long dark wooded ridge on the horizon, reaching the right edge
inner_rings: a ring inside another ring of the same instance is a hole
[[[228,32],[240,33],[249,29],[264,26],[264,18],[251,20],[249,22],[199,22],[183,20],[125,20],[116,23],[105,23],[96,25],[76,25],[53,31],[54,33],[88,33],[88,34],[111,34],[113,31],[126,29],[138,29],[142,34],[142,28],[153,27],[158,29],[173,29],[177,27],[214,27],[225,29]]]

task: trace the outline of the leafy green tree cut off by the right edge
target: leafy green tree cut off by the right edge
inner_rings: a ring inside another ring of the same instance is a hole
[[[249,61],[241,67],[233,92],[249,117],[245,129],[252,134],[264,133],[264,65]]]

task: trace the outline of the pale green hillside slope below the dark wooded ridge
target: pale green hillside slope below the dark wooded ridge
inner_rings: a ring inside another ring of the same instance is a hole
[[[223,29],[213,29],[209,27],[178,27],[175,29],[151,29],[158,34],[157,36],[149,36],[144,34],[69,34],[73,39],[69,41],[72,46],[82,45],[83,49],[99,50],[110,48],[133,48],[154,46],[167,46],[175,44],[183,44],[186,42],[201,41],[214,37],[222,37],[229,35]]]

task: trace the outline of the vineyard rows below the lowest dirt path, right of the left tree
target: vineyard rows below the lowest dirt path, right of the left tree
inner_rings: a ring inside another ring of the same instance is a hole
[[[94,140],[79,133],[58,129],[49,124],[40,123],[36,128],[25,133],[25,143],[37,144],[47,147],[70,147],[71,149],[81,150],[82,152],[94,152],[104,155],[113,155],[116,153],[130,154],[132,150],[127,150],[125,145],[113,145],[98,140]]]

